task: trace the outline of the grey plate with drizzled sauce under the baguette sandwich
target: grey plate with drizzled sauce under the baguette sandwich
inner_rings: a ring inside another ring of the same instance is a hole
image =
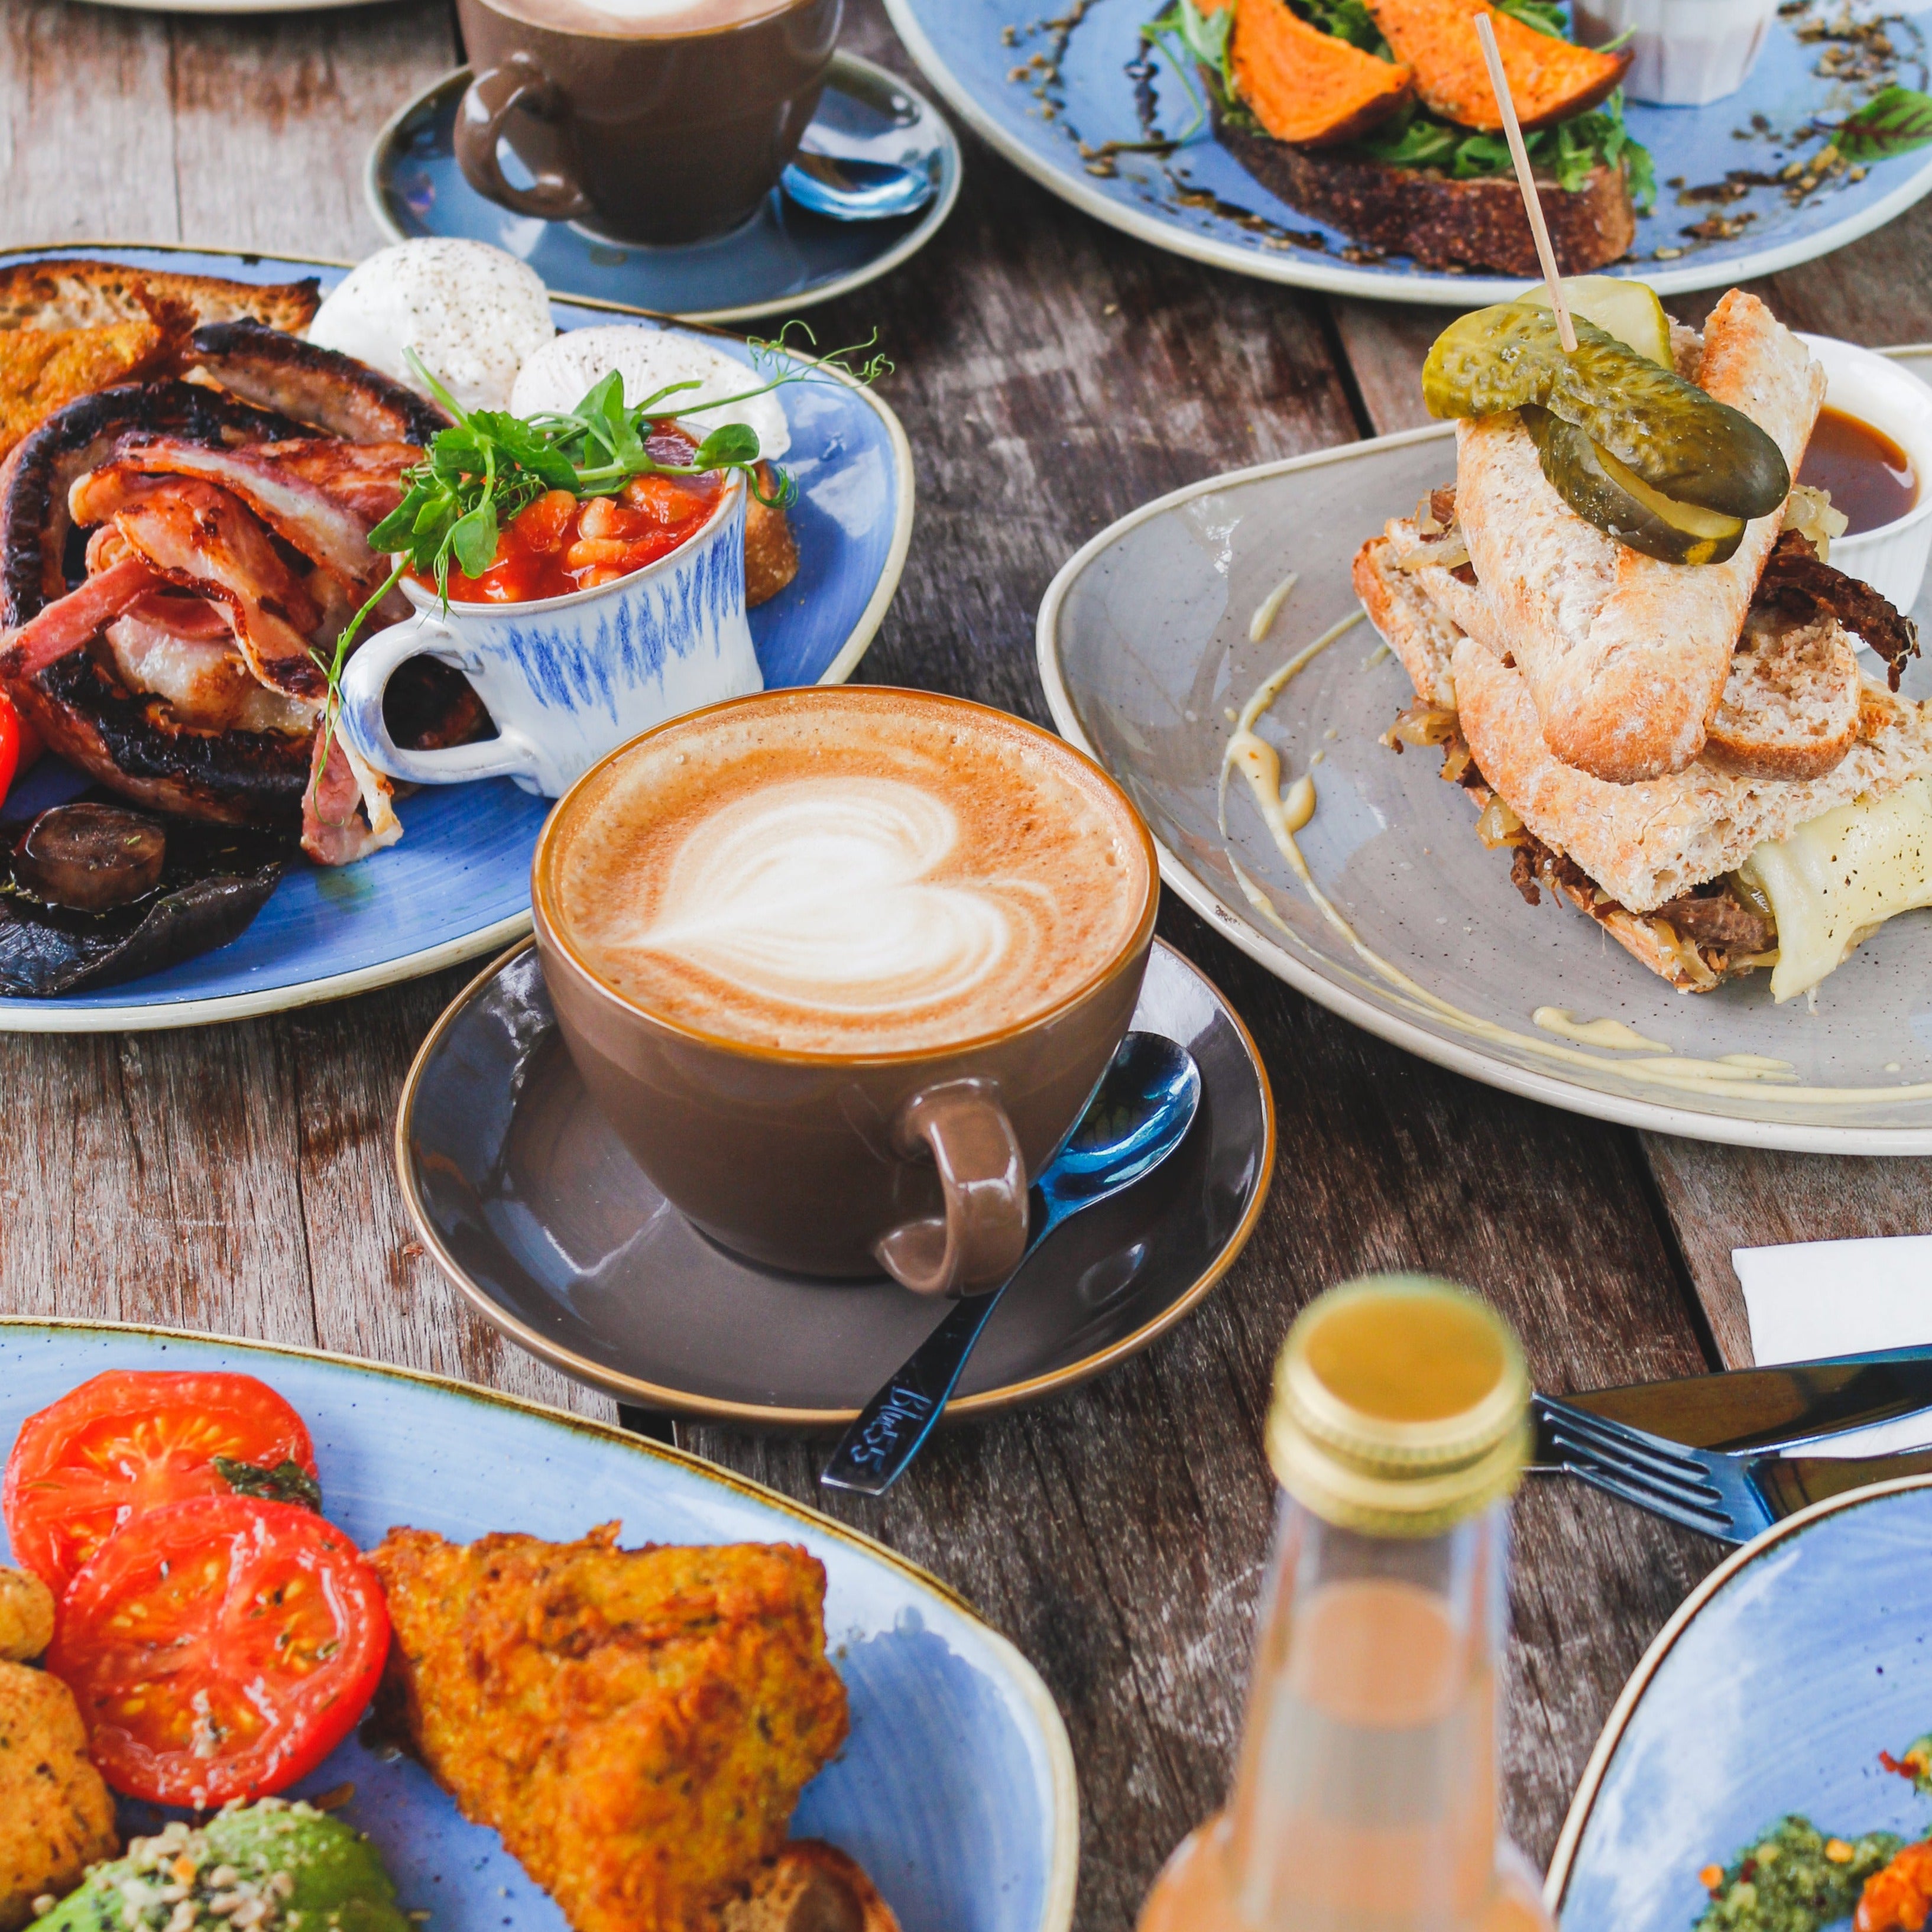
[[[1414,692],[1366,622],[1314,657],[1260,723],[1283,784],[1314,781],[1298,844],[1347,927],[1294,877],[1238,775],[1223,837],[1217,784],[1236,711],[1360,609],[1356,549],[1455,479],[1451,435],[1445,423],[1209,477],[1101,531],[1039,609],[1039,674],[1059,728],[1126,788],[1161,877],[1196,912],[1410,1053],[1665,1134],[1932,1153],[1932,912],[1891,920],[1814,1007],[1776,1007],[1762,972],[1714,993],[1673,991],[1548,893],[1526,906],[1509,856],[1484,850],[1466,798],[1439,781],[1439,753],[1397,757],[1379,742]],[[1915,614],[1932,634],[1932,601]],[[1915,663],[1905,692],[1932,694],[1932,667]],[[1540,1010],[1615,1020],[1644,1045],[1575,1041],[1538,1024]]]

